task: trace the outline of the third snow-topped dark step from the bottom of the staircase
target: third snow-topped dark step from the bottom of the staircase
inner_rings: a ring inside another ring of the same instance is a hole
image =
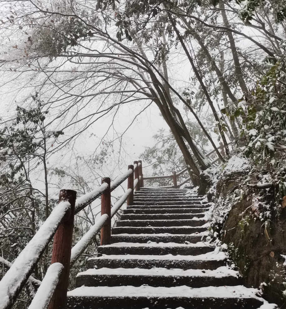
[[[209,252],[199,255],[139,255],[139,254],[115,254],[102,255],[88,259],[89,268],[144,268],[162,267],[166,269],[210,269],[214,270],[226,266],[227,256],[223,252],[216,254]]]

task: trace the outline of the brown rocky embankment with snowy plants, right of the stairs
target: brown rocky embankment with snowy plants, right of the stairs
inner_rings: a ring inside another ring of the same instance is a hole
[[[210,174],[212,235],[227,244],[246,287],[260,287],[268,302],[286,308],[286,200],[277,175],[258,172],[239,156]],[[285,170],[278,174],[285,176]]]

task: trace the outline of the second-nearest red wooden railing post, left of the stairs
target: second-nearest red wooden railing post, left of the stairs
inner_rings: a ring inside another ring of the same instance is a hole
[[[100,230],[100,245],[111,244],[111,195],[110,195],[110,178],[101,178],[101,184],[107,183],[108,189],[101,194],[101,216],[106,213],[108,215],[107,223]]]

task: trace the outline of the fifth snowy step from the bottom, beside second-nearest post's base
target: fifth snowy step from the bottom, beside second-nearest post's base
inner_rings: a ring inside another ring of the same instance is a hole
[[[175,242],[177,244],[184,244],[185,241],[188,241],[192,244],[204,241],[206,239],[206,236],[197,234],[197,235],[184,235],[184,234],[178,234],[178,235],[168,235],[168,234],[117,234],[117,235],[111,235],[111,243],[116,242],[137,242],[141,244],[146,244],[147,241],[152,242]]]

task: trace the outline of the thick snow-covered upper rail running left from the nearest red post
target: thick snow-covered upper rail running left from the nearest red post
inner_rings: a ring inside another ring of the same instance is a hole
[[[12,306],[69,209],[70,203],[67,201],[60,202],[54,208],[39,231],[2,278],[0,281],[0,309],[7,309]]]

